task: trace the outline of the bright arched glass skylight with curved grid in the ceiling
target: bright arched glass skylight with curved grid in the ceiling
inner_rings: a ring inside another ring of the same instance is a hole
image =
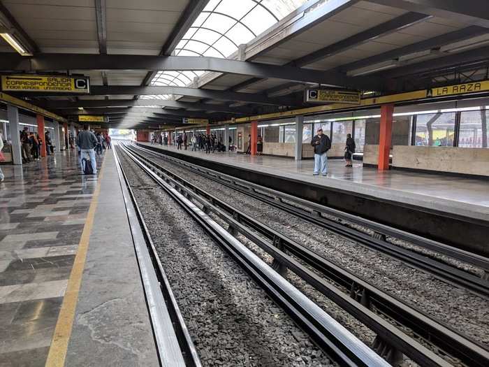
[[[175,48],[176,56],[229,57],[307,0],[210,0]],[[151,85],[184,87],[204,71],[159,71]],[[169,99],[170,95],[141,96]]]

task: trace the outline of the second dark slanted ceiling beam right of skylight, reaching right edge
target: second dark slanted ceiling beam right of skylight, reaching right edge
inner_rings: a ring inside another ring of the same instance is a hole
[[[357,62],[351,62],[350,64],[341,66],[339,70],[346,73],[347,71],[361,69],[364,68],[365,66],[370,66],[374,64],[379,64],[381,62],[386,62],[388,60],[397,59],[397,57],[401,57],[404,55],[410,55],[416,52],[432,50],[434,48],[440,48],[441,46],[449,45],[451,43],[469,40],[470,38],[481,36],[487,33],[489,33],[489,29],[487,28],[478,27],[478,26],[469,26],[447,34],[442,34],[441,36],[428,38],[425,41],[411,43],[411,45],[406,45],[401,48],[396,48],[395,50],[387,51],[379,55],[367,57],[365,59],[358,60]]]

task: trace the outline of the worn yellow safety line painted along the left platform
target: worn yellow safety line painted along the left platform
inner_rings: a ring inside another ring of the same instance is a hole
[[[100,194],[104,164],[105,160],[103,161],[100,174],[98,175],[98,182],[94,191],[94,196],[92,197],[92,202],[90,203],[87,214],[87,220],[85,221],[82,236],[80,237],[78,251],[76,253],[75,261],[73,262],[73,268],[71,268],[71,274],[70,278],[68,279],[68,285],[66,286],[63,304],[61,305],[61,310],[59,311],[56,329],[54,329],[48,359],[46,360],[45,364],[47,367],[64,366],[64,360],[68,350],[68,342],[70,340],[71,330],[73,329],[73,319],[75,319],[76,304],[78,303],[78,292],[80,292],[83,271],[85,269],[85,260],[87,259],[90,235],[92,234],[92,228],[94,225],[95,211],[98,205],[98,194]]]

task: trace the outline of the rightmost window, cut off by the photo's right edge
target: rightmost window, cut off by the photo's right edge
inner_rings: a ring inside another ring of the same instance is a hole
[[[460,113],[459,147],[488,147],[489,111],[464,111]]]

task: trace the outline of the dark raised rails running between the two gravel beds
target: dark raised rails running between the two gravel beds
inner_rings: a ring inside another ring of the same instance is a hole
[[[395,328],[388,324],[384,319],[379,319],[379,317],[374,315],[369,308],[378,310],[382,314],[394,319],[395,322],[409,327],[409,329],[413,330],[416,335],[421,336],[421,338],[430,343],[430,345],[436,345],[437,348],[446,354],[460,359],[466,366],[487,366],[489,363],[488,351],[484,350],[483,347],[477,345],[472,340],[460,335],[449,326],[437,322],[435,319],[430,318],[423,314],[423,312],[412,308],[409,305],[405,305],[397,298],[377,289],[365,280],[362,280],[356,277],[356,275],[349,273],[349,271],[346,271],[344,268],[337,266],[337,264],[334,264],[323,257],[319,257],[306,247],[295,243],[293,240],[282,236],[268,226],[257,222],[249,215],[233,208],[224,201],[212,196],[212,194],[208,194],[203,189],[196,187],[187,180],[178,178],[175,173],[172,173],[167,168],[159,166],[159,164],[156,164],[156,162],[151,159],[148,159],[137,152],[134,153],[143,159],[153,171],[159,171],[158,174],[164,172],[168,177],[166,179],[167,182],[170,182],[171,180],[175,187],[184,190],[187,196],[191,196],[194,200],[199,201],[204,208],[208,208],[209,206],[217,208],[214,210],[214,213],[228,222],[231,228],[238,229],[242,235],[258,244],[275,259],[278,258],[282,264],[286,264],[288,268],[291,268],[291,270],[297,273],[301,278],[316,287],[319,292],[328,296],[328,298],[335,301],[340,307],[359,319],[360,322],[363,322],[369,326],[370,329],[376,331],[381,340],[388,340],[388,343],[395,348],[393,350],[397,349],[402,351],[423,366],[436,365],[433,361],[430,361],[429,357],[426,357],[425,354],[419,352],[419,350],[425,351],[423,346],[412,339],[409,340],[409,343],[406,343],[406,340],[402,337],[395,333],[393,334],[393,329]],[[223,214],[222,210],[226,210],[227,214]],[[258,236],[251,233],[249,229],[253,229],[259,233]],[[263,238],[263,236],[265,236],[265,238]],[[288,257],[285,252],[277,250],[273,245],[270,245],[270,242],[278,245],[278,247],[282,247],[284,251],[293,254],[298,259],[301,259],[308,266],[319,271],[321,275],[328,278],[328,280],[344,287],[346,293],[348,289],[351,289],[351,295],[358,302],[344,296],[344,291],[338,290],[337,288],[335,289],[324,282],[317,275],[297,263],[297,261]],[[360,308],[360,310],[358,310],[358,308]],[[377,319],[375,317],[377,317]],[[401,331],[400,335],[404,336],[404,333]],[[428,352],[431,353],[430,351]]]

